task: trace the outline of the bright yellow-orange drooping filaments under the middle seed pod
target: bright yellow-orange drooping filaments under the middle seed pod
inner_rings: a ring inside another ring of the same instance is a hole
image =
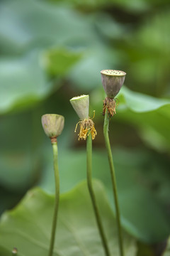
[[[80,132],[78,134],[79,140],[80,139],[86,140],[86,137],[89,136],[90,133],[91,133],[91,138],[95,139],[97,132],[96,132],[96,129],[94,128],[94,122],[93,120],[91,120],[91,118],[81,120],[77,123],[77,125],[78,124],[80,126]],[[77,131],[77,126],[74,132],[76,131]]]

